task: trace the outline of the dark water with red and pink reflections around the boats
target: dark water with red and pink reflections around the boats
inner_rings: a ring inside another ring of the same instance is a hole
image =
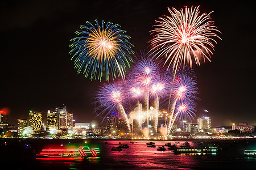
[[[166,142],[183,143],[185,141],[153,141],[156,148],[148,148],[149,141],[114,141],[88,139],[1,139],[10,145],[17,146],[10,149],[10,155],[1,157],[1,163],[9,165],[9,169],[254,169],[256,159],[243,158],[243,150],[256,147],[255,139],[243,140],[204,140],[205,143],[216,143],[223,147],[217,154],[180,154],[173,151],[157,151],[157,146],[164,146]],[[106,144],[105,142],[108,142]],[[130,148],[123,148],[121,152],[113,152],[111,148],[127,144]],[[20,143],[20,144],[19,144]],[[47,158],[24,159],[18,145],[30,143],[38,154],[42,148],[60,148],[70,145],[86,145],[99,147],[100,157],[83,160],[81,158]],[[192,141],[190,141],[192,145]],[[8,145],[8,144],[7,144]]]

